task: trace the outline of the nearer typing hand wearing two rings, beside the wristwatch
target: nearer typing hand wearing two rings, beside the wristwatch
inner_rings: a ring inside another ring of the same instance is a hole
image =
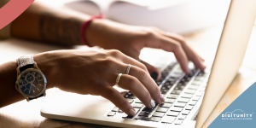
[[[34,60],[45,74],[48,88],[103,96],[129,115],[134,115],[135,109],[113,88],[119,73],[123,73],[119,87],[131,90],[147,108],[152,108],[152,99],[159,104],[164,102],[147,68],[119,50],[56,50],[34,55]],[[125,74],[128,64],[131,69]]]

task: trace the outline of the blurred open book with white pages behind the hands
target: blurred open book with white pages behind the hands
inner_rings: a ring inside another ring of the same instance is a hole
[[[224,23],[230,0],[79,0],[65,6],[135,26],[189,34]]]

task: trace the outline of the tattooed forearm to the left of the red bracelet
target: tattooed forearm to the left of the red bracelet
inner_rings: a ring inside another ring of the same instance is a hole
[[[83,44],[81,28],[89,19],[89,15],[70,9],[52,9],[35,2],[13,21],[11,34],[50,44]]]

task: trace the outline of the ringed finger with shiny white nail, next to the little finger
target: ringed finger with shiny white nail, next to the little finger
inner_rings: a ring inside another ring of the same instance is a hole
[[[119,87],[125,90],[131,90],[131,93],[139,98],[147,108],[154,108],[154,102],[151,102],[151,96],[143,84],[135,77],[123,74],[119,79]]]

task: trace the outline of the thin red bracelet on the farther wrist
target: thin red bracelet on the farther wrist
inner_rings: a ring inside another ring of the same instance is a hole
[[[91,16],[89,20],[85,21],[83,26],[82,26],[82,32],[81,32],[81,36],[82,36],[82,39],[83,39],[83,42],[84,42],[84,45],[87,45],[89,46],[87,40],[86,40],[86,37],[84,35],[85,31],[86,31],[86,28],[90,25],[90,22],[91,20],[94,20],[94,19],[103,19],[103,16],[102,15],[95,15],[95,16]],[[90,47],[90,46],[89,46]]]

